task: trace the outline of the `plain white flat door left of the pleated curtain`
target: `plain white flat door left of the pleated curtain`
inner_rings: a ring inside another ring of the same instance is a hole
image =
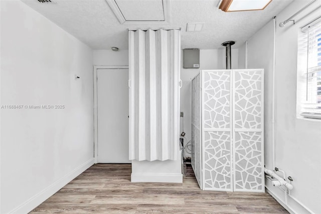
[[[97,69],[98,163],[128,156],[128,69]]]

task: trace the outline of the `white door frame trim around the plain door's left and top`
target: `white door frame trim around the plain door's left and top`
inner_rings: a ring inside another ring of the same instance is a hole
[[[94,163],[98,163],[98,111],[97,111],[97,70],[99,69],[129,69],[128,65],[94,65]],[[128,107],[129,108],[129,107]]]

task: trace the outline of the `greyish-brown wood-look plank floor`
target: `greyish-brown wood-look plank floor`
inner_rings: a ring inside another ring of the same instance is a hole
[[[200,190],[191,167],[183,184],[131,183],[130,164],[95,164],[30,213],[287,213],[268,193]]]

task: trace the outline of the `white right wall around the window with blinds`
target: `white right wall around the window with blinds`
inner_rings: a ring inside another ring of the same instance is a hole
[[[295,18],[295,25],[284,28],[278,24],[300,10],[307,1],[294,1],[276,15],[276,117],[275,117],[275,165],[293,178],[291,195],[308,209],[321,213],[321,121],[296,118],[296,64],[297,33],[299,28],[320,15],[318,1]],[[303,15],[307,15],[302,18]],[[241,54],[241,52],[239,52]],[[242,53],[244,54],[244,52]],[[241,63],[239,63],[242,66]],[[265,69],[265,165],[272,169],[271,109],[273,66],[273,21],[258,31],[248,43],[248,68]],[[240,67],[242,68],[242,67]],[[279,201],[284,194],[267,180],[266,187]],[[289,208],[296,213],[308,213],[293,199],[288,198]]]

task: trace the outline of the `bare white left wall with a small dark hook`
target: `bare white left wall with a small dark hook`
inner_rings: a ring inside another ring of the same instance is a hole
[[[74,74],[80,79],[75,80]],[[93,164],[92,50],[1,1],[1,213],[27,213]]]

